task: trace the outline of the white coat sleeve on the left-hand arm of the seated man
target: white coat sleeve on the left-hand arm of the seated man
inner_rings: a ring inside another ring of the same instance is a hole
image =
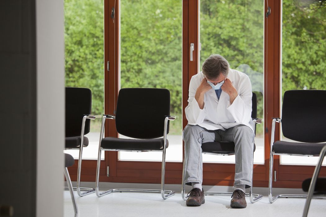
[[[195,77],[192,77],[189,84],[188,106],[185,108],[185,116],[188,120],[188,124],[200,124],[204,121],[206,116],[205,105],[203,109],[200,109],[195,99],[196,90],[199,85],[200,82],[196,81]]]

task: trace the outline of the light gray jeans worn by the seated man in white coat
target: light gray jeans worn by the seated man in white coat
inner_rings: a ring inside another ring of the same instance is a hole
[[[234,142],[234,186],[251,186],[255,134],[245,125],[221,130],[207,130],[198,125],[187,125],[183,131],[185,141],[185,184],[202,183],[203,166],[201,144],[205,142]]]

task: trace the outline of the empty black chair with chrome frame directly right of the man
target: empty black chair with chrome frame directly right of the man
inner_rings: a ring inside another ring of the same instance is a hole
[[[326,90],[285,91],[282,119],[273,118],[269,164],[269,202],[285,198],[305,198],[307,195],[272,195],[274,155],[319,156],[326,143]],[[274,142],[275,122],[282,123],[284,137],[297,141]],[[274,177],[274,181],[276,181]]]

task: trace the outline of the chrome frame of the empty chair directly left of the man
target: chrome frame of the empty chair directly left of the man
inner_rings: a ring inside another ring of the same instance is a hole
[[[175,120],[175,116],[169,116],[165,118],[164,121],[164,146],[162,149],[162,175],[161,175],[161,190],[153,190],[153,189],[110,189],[104,191],[102,193],[99,192],[99,170],[100,170],[100,162],[101,162],[101,151],[127,151],[127,150],[119,150],[119,149],[104,149],[101,148],[101,141],[103,139],[105,120],[106,119],[115,119],[114,115],[103,115],[102,124],[101,124],[101,132],[100,132],[100,141],[98,145],[98,157],[97,157],[97,169],[96,169],[96,183],[95,183],[95,191],[97,197],[102,197],[104,195],[113,193],[113,192],[139,192],[139,193],[160,193],[163,199],[171,197],[175,194],[175,191],[164,190],[164,179],[165,179],[165,154],[166,154],[166,141],[167,141],[167,130],[168,130],[168,121]],[[152,150],[146,151],[138,151],[138,152],[149,152]]]

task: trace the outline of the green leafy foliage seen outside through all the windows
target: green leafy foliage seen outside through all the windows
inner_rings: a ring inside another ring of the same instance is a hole
[[[326,89],[325,4],[283,0],[282,93]],[[123,0],[120,12],[121,88],[169,89],[171,114],[179,116],[171,131],[181,134],[182,1]],[[200,65],[218,53],[247,74],[258,96],[259,117],[263,25],[261,0],[200,1]],[[103,113],[103,0],[65,0],[65,45],[66,86],[91,88],[93,114]]]

